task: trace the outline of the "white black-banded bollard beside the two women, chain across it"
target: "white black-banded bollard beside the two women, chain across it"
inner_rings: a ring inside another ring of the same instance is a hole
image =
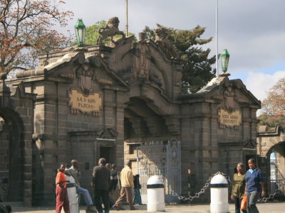
[[[228,183],[224,175],[214,175],[210,187],[211,213],[229,212]]]

